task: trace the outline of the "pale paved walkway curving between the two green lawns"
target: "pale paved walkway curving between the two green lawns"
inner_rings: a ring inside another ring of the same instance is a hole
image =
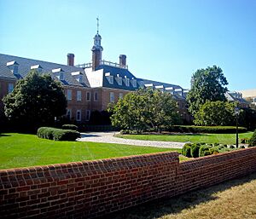
[[[103,143],[125,144],[135,146],[147,146],[147,147],[168,147],[168,148],[182,148],[183,142],[172,141],[143,141],[143,140],[131,140],[115,137],[113,135],[118,132],[86,132],[81,133],[81,138],[78,141],[93,141]]]

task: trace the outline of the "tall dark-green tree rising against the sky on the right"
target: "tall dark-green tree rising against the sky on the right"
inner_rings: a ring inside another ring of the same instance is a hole
[[[191,78],[191,89],[187,96],[189,112],[193,116],[206,101],[226,101],[227,79],[220,67],[212,66],[197,70]]]

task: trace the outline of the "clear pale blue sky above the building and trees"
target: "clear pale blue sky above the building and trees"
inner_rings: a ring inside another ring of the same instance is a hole
[[[256,0],[0,0],[0,53],[75,65],[91,61],[96,17],[102,59],[190,88],[220,66],[228,89],[256,89]]]

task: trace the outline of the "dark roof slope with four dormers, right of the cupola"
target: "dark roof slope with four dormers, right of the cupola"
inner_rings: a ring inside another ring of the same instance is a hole
[[[125,68],[120,68],[116,66],[107,66],[107,65],[100,65],[96,68],[96,70],[103,69],[103,87],[113,88],[113,89],[126,89],[126,90],[135,90],[139,88],[139,84],[137,83],[136,87],[133,87],[133,85],[130,82],[130,86],[125,86],[125,77],[131,79],[137,78],[128,70]],[[105,73],[110,73],[111,76],[113,76],[113,84],[110,84],[108,81],[108,78],[105,77]],[[122,85],[118,84],[117,78],[122,78]]]

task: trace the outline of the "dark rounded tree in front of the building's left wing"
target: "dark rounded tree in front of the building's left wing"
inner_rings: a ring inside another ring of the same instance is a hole
[[[60,83],[50,75],[29,72],[15,89],[3,98],[4,113],[21,128],[37,129],[54,123],[55,117],[66,113],[67,100]]]

